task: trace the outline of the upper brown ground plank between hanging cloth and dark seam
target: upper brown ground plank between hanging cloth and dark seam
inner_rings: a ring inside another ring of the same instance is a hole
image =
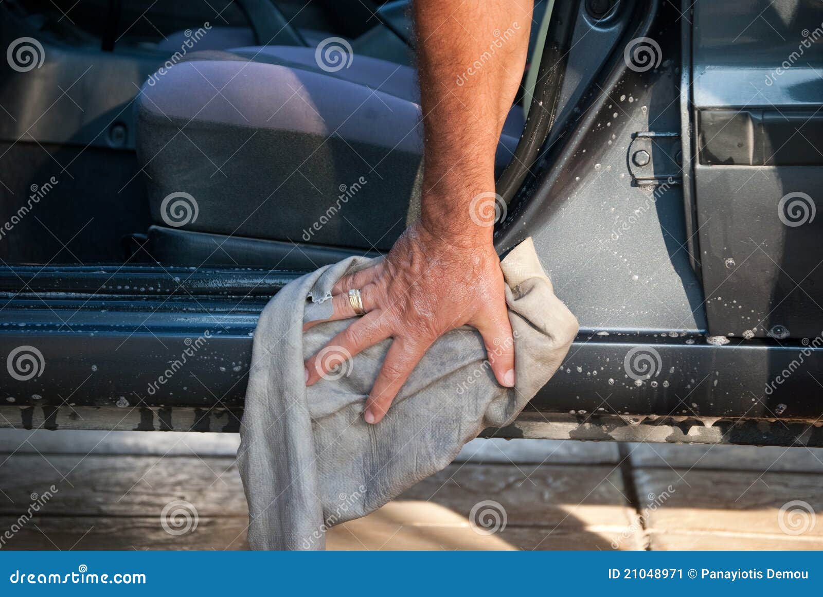
[[[399,499],[432,501],[467,517],[479,502],[499,502],[510,525],[554,527],[631,524],[613,466],[449,465]]]

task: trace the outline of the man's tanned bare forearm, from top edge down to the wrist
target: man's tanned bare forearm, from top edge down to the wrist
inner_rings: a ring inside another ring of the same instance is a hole
[[[495,150],[523,76],[532,0],[416,0],[423,112],[422,222],[491,242],[472,197],[495,190]]]

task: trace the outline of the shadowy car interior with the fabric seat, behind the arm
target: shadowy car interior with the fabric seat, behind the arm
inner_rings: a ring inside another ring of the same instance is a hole
[[[4,2],[3,43],[37,39],[49,61],[3,73],[2,215],[58,182],[3,261],[288,270],[388,250],[421,183],[407,4]],[[521,95],[501,171],[524,122]]]

